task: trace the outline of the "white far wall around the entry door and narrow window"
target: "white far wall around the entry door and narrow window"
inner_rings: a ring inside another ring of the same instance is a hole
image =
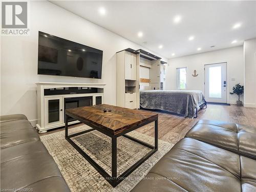
[[[176,68],[187,67],[187,90],[204,92],[204,65],[218,62],[227,62],[227,102],[236,103],[237,95],[230,95],[229,92],[232,92],[234,84],[244,84],[243,46],[169,59],[165,89],[176,90]],[[192,76],[194,70],[199,74],[197,77]]]

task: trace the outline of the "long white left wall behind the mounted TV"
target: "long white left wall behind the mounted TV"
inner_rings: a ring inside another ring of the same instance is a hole
[[[104,101],[116,103],[115,53],[142,47],[47,1],[31,1],[29,19],[30,36],[1,39],[1,115],[22,113],[35,124],[38,81],[106,83]],[[37,75],[38,31],[103,50],[102,79]]]

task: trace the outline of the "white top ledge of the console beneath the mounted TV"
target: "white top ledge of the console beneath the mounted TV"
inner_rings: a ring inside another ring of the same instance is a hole
[[[105,83],[69,83],[69,82],[37,82],[37,86],[44,86],[44,89],[61,88],[61,87],[92,87],[103,88]]]

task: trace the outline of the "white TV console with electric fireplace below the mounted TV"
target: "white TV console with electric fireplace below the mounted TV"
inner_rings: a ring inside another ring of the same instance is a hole
[[[81,99],[81,103],[89,103],[89,105],[101,104],[104,100],[104,83],[37,82],[36,85],[36,128],[39,133],[46,133],[47,130],[65,126],[65,106],[67,104],[65,102],[66,100],[76,100],[76,98],[79,98]],[[62,92],[66,94],[62,94]],[[73,101],[73,103],[76,102],[78,103],[78,101]],[[72,106],[73,103],[71,101],[69,103],[70,106]],[[74,124],[78,122],[79,121],[71,121],[68,124]]]

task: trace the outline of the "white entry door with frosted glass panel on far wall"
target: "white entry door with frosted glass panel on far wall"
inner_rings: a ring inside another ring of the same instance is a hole
[[[205,65],[204,70],[205,100],[227,103],[227,63]]]

